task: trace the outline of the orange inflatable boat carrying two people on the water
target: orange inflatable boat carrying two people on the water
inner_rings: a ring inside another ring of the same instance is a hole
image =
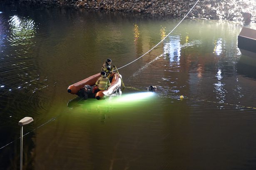
[[[101,90],[96,94],[93,94],[92,89],[99,77],[100,77],[100,73],[92,75],[73,85],[70,85],[67,88],[67,92],[74,95],[78,95],[79,97],[84,97],[85,99],[87,99],[88,97],[91,97],[91,98],[95,97],[97,100],[99,100],[99,99],[104,99],[106,96],[112,95],[113,93],[117,92],[117,90],[119,90],[119,88],[121,87],[122,75],[112,72],[111,85],[107,88],[107,90]]]

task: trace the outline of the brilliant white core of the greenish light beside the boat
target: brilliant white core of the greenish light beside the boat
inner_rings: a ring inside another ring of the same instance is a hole
[[[146,99],[148,97],[152,97],[154,95],[154,92],[138,92],[138,93],[132,93],[128,95],[122,95],[118,98],[119,102],[129,102],[129,101],[137,101]]]

